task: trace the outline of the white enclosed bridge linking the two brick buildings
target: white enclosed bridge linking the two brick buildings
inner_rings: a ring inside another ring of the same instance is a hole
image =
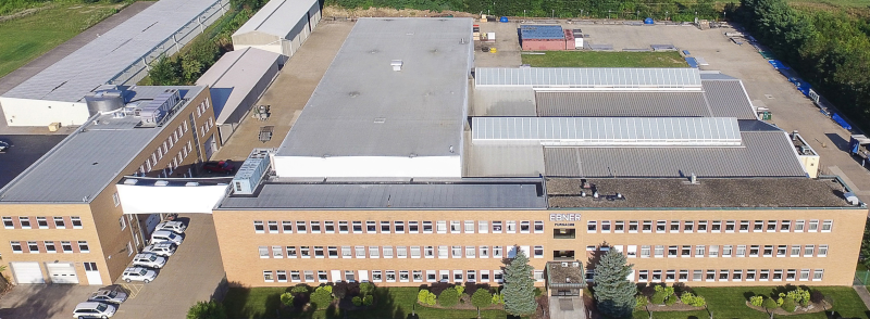
[[[226,194],[224,186],[129,186],[117,184],[124,214],[203,213],[211,214]]]

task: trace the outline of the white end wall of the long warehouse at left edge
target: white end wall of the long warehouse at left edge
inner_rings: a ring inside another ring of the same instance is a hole
[[[58,102],[0,97],[0,106],[9,126],[82,125],[90,114],[84,102]]]

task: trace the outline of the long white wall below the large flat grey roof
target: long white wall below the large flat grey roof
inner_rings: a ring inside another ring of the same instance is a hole
[[[275,156],[278,177],[462,177],[455,156]]]

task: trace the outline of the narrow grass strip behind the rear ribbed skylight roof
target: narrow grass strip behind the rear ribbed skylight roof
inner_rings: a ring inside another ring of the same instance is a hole
[[[523,54],[523,64],[535,67],[687,67],[678,52],[546,51]]]

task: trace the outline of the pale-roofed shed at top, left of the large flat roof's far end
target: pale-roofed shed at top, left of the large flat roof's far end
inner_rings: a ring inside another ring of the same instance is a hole
[[[233,48],[257,48],[293,56],[321,20],[318,0],[271,0],[233,34]]]

